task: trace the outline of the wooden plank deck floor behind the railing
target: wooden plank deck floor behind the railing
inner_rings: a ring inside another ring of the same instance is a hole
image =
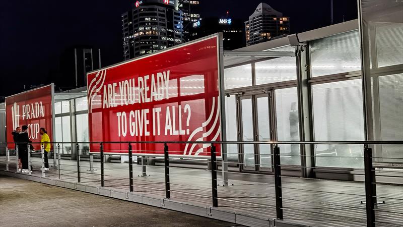
[[[13,158],[13,156],[12,156]],[[15,157],[14,157],[15,158]],[[33,158],[34,169],[41,167],[40,159]],[[13,163],[15,163],[13,161]],[[4,169],[0,160],[0,169]],[[89,162],[81,161],[81,182],[100,186],[100,163],[95,172],[89,172]],[[61,160],[61,178],[77,182],[77,162]],[[128,164],[105,163],[105,187],[127,192],[129,190]],[[10,170],[15,170],[15,164]],[[147,176],[140,177],[141,166],[133,164],[135,192],[165,197],[163,166],[147,166]],[[32,175],[41,176],[34,171]],[[218,174],[218,183],[221,182]],[[56,179],[57,170],[46,172]],[[236,179],[236,180],[235,180]],[[231,186],[218,186],[219,209],[263,219],[276,217],[274,177],[231,173]],[[170,167],[171,199],[211,206],[211,172],[204,169]],[[330,181],[283,177],[284,220],[310,226],[366,226],[365,187],[362,182]],[[377,226],[403,226],[403,187],[377,185],[377,196],[385,204],[375,206]]]

